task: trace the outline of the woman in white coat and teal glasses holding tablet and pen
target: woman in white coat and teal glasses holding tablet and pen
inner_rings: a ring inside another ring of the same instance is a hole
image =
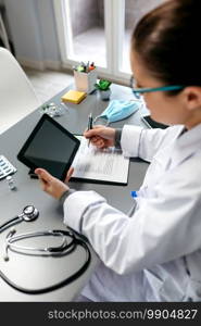
[[[134,93],[143,95],[153,120],[173,126],[85,133],[99,148],[121,146],[125,156],[151,162],[131,216],[36,170],[43,190],[63,200],[64,223],[101,260],[79,301],[201,301],[200,12],[198,0],[166,1],[131,38]]]

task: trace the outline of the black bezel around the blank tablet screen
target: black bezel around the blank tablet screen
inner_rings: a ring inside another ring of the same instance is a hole
[[[23,145],[22,149],[20,150],[20,152],[17,154],[17,159],[18,159],[18,161],[21,161],[22,163],[24,163],[26,166],[30,167],[32,171],[35,171],[35,168],[37,168],[37,167],[42,167],[42,166],[37,166],[35,163],[30,162],[26,156],[24,156],[24,154],[26,153],[26,150],[28,149],[29,145],[34,140],[34,138],[37,135],[37,133],[42,127],[42,124],[45,123],[45,121],[49,121],[52,125],[54,125],[56,128],[59,128],[63,134],[65,134],[66,136],[68,136],[68,138],[73,139],[75,141],[74,151],[73,151],[73,153],[72,153],[71,159],[68,160],[68,162],[66,162],[65,168],[64,168],[64,171],[62,173],[62,176],[60,178],[61,180],[64,181],[65,177],[66,177],[67,170],[72,165],[72,162],[73,162],[73,160],[75,158],[75,154],[76,154],[76,152],[77,152],[77,150],[79,148],[80,141],[73,134],[71,134],[68,130],[66,130],[61,124],[59,124],[56,121],[54,121],[52,117],[50,117],[46,113],[41,116],[41,118],[39,120],[39,122],[37,123],[37,125],[35,126],[35,128],[33,129],[32,134],[29,135],[29,137],[27,138],[27,140],[25,141],[25,143]]]

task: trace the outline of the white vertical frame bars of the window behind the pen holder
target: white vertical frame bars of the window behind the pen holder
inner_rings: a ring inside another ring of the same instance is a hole
[[[78,62],[71,59],[73,57],[73,35],[70,0],[53,0],[53,7],[62,67],[72,68],[72,66]],[[104,28],[106,37],[106,67],[98,66],[98,75],[101,78],[110,78],[116,83],[128,86],[130,74],[121,71],[122,60],[124,60],[125,0],[104,0]]]

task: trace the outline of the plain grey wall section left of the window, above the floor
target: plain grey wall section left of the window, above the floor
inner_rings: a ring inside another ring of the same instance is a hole
[[[18,61],[37,68],[59,66],[52,0],[7,0],[4,4]]]

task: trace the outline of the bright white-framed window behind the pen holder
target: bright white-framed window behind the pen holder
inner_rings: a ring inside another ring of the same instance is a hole
[[[164,0],[54,0],[63,65],[95,62],[99,76],[128,84],[138,20]]]

